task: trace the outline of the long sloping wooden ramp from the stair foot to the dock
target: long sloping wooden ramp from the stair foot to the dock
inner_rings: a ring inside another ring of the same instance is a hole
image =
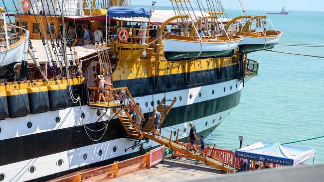
[[[238,172],[237,168],[234,168],[234,166],[228,165],[231,164],[230,161],[220,161],[219,159],[213,158],[211,156],[208,155],[203,155],[203,157],[200,155],[200,152],[196,152],[194,153],[193,151],[189,151],[189,145],[187,144],[183,144],[180,142],[177,142],[177,138],[176,140],[172,140],[171,136],[172,136],[172,131],[171,131],[171,135],[170,138],[164,137],[164,136],[154,136],[152,133],[143,133],[145,138],[148,138],[150,140],[153,140],[159,144],[165,145],[168,148],[173,149],[174,151],[177,151],[181,154],[184,154],[186,156],[188,156],[191,159],[195,159],[197,161],[206,163],[207,165],[210,165],[216,169],[219,169],[223,172],[226,173],[235,173]],[[209,149],[209,147],[208,147]],[[207,150],[208,150],[207,149]],[[208,152],[206,152],[208,153]]]

